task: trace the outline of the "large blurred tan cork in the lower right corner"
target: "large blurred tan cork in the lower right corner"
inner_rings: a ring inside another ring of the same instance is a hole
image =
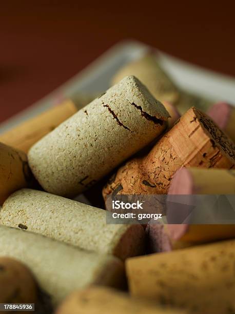
[[[130,258],[131,295],[187,308],[193,313],[235,311],[235,241]]]

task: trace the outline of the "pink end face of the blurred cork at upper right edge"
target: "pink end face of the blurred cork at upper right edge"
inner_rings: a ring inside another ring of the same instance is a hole
[[[207,114],[214,123],[224,130],[227,126],[231,111],[232,106],[228,103],[217,103],[210,107]]]

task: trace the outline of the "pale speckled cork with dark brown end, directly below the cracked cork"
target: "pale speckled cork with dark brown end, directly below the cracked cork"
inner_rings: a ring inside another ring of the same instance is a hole
[[[82,249],[113,254],[122,260],[143,254],[143,227],[107,224],[106,213],[57,195],[22,189],[4,203],[0,223],[41,233]]]

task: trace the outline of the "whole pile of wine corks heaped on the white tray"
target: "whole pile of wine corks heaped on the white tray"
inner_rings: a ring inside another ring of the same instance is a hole
[[[86,103],[67,100],[0,135],[0,303],[45,314],[235,312],[233,224],[108,224],[98,205],[234,194],[234,108],[207,111],[212,101],[179,88],[153,54]],[[74,200],[84,192],[93,206]]]

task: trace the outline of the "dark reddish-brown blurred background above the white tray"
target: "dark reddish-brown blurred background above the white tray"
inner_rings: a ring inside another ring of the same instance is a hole
[[[126,39],[235,76],[234,34],[226,2],[1,2],[0,122]]]

